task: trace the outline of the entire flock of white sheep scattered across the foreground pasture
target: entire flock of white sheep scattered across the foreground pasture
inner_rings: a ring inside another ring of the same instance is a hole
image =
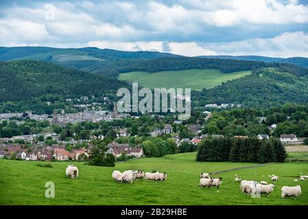
[[[79,175],[79,170],[77,166],[69,165],[67,166],[66,174],[71,179],[77,179]],[[301,174],[301,173],[300,173]],[[263,176],[265,177],[265,176]],[[268,175],[271,181],[278,181],[279,177],[275,175]],[[146,180],[153,180],[153,181],[165,181],[167,179],[167,172],[143,172],[143,170],[126,170],[124,172],[120,172],[119,170],[115,170],[112,172],[112,179],[117,181],[118,183],[125,182],[125,183],[132,183],[132,181],[137,179],[146,179]],[[300,176],[300,180],[308,179],[308,175]],[[236,177],[235,181],[240,184],[241,192],[244,194],[248,194],[248,196],[256,196],[257,194],[266,194],[267,196],[273,192],[276,185],[274,183],[268,183],[266,181],[261,181],[260,183],[257,181],[249,181],[249,180],[242,180],[241,177]],[[295,179],[294,181],[298,181]],[[220,188],[222,185],[222,177],[212,178],[210,177],[209,173],[201,172],[200,173],[200,182],[199,187],[206,187],[210,188],[215,186],[217,189]],[[302,189],[300,185],[296,186],[283,186],[281,188],[281,197],[296,197],[302,194]]]

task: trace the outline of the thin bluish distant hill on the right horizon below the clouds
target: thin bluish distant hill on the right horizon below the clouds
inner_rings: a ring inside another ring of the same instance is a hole
[[[296,66],[308,68],[308,58],[307,57],[266,57],[258,55],[201,55],[196,57],[202,57],[206,59],[222,59],[222,60],[246,60],[246,61],[257,61],[257,62],[280,62],[280,63],[289,63],[295,64]]]

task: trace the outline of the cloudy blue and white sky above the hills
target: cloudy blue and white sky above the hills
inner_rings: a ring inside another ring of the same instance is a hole
[[[308,0],[0,0],[0,46],[308,57]]]

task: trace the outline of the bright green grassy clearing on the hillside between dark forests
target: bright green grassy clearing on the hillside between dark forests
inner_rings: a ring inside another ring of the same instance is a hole
[[[121,73],[119,79],[138,82],[145,88],[191,88],[191,90],[202,90],[203,88],[213,88],[228,80],[238,79],[250,74],[251,71],[249,70],[225,74],[215,69],[174,70],[158,73],[134,71]]]

